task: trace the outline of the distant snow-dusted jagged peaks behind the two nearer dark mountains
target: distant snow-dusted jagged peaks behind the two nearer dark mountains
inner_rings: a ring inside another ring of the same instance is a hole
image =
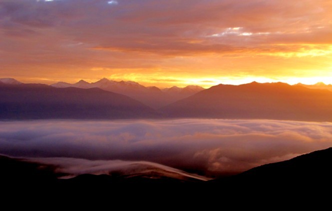
[[[103,78],[94,83],[88,83],[80,80],[75,84],[65,82],[58,82],[50,85],[56,88],[76,87],[81,89],[100,88],[105,91],[114,92],[126,95],[132,99],[142,102],[143,104],[152,108],[158,109],[168,104],[174,103],[178,100],[194,95],[204,88],[199,86],[187,86],[185,88],[171,87],[166,89],[159,89],[157,87],[144,87],[132,81],[112,81]]]

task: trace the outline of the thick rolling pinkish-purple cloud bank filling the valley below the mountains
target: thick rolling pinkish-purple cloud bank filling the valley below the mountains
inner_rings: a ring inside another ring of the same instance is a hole
[[[242,172],[331,146],[329,122],[218,119],[0,122],[1,154],[146,161],[206,176]]]

